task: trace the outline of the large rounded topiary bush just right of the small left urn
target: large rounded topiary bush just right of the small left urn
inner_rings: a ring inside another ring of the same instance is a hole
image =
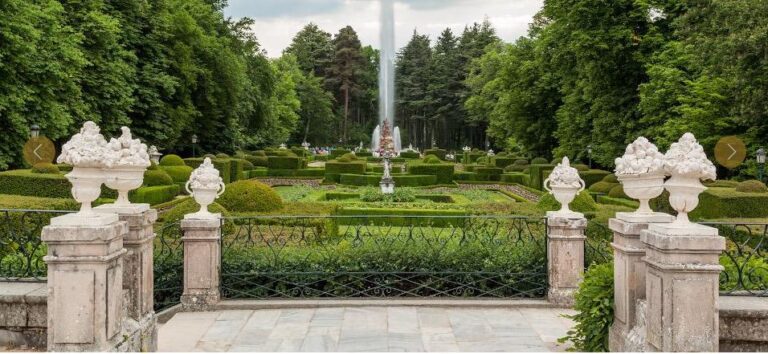
[[[269,212],[283,208],[283,200],[268,185],[255,180],[227,185],[218,203],[232,212]]]

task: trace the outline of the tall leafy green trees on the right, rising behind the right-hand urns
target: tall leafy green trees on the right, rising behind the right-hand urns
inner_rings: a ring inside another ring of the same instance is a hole
[[[611,167],[645,135],[685,131],[711,153],[768,143],[768,3],[546,0],[527,36],[471,64],[470,116],[496,145]]]

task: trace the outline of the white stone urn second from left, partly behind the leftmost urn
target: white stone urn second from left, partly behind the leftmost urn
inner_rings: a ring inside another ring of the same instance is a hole
[[[151,165],[147,145],[139,139],[133,139],[128,127],[121,128],[123,134],[118,139],[111,139],[108,148],[111,150],[111,160],[108,161],[107,187],[117,191],[114,206],[128,206],[128,192],[141,187],[144,182],[144,171]]]

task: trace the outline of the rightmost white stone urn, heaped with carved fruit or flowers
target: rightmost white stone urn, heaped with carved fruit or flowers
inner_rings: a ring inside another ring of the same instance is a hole
[[[685,133],[664,155],[664,170],[671,177],[664,183],[669,204],[677,211],[674,224],[689,225],[688,213],[699,205],[699,194],[707,189],[702,180],[715,180],[717,171],[704,148],[691,133]]]

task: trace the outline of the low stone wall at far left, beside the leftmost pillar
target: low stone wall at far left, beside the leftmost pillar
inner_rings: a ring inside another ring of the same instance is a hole
[[[0,348],[45,350],[46,288],[44,282],[0,283]]]

